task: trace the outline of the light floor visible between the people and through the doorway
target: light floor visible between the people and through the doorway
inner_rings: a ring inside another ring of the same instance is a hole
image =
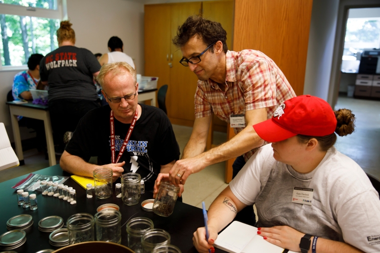
[[[380,101],[339,97],[335,109],[351,109],[356,116],[356,130],[351,135],[338,137],[335,147],[351,157],[366,172],[380,178]],[[183,151],[191,134],[191,127],[173,125],[177,141]],[[226,141],[226,134],[214,132],[214,144]],[[37,150],[24,152],[25,165],[0,171],[0,182],[48,167],[48,161]],[[185,185],[183,200],[192,206],[206,208],[227,187],[224,182],[225,163],[219,163],[190,175]]]

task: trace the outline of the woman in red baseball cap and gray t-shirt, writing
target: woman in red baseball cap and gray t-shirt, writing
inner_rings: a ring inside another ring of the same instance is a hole
[[[272,144],[261,147],[212,203],[209,240],[204,227],[194,233],[198,252],[212,251],[217,233],[252,204],[257,233],[282,248],[380,252],[379,194],[363,169],[333,147],[336,134],[354,131],[354,121],[350,110],[334,112],[323,99],[303,95],[254,125]]]

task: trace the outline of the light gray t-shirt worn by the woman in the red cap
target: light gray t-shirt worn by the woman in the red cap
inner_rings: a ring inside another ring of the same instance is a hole
[[[314,189],[312,205],[292,203],[293,188]],[[287,225],[302,233],[380,252],[380,200],[367,175],[349,157],[328,150],[310,173],[299,173],[261,147],[230,183],[246,205],[256,204],[259,226]]]

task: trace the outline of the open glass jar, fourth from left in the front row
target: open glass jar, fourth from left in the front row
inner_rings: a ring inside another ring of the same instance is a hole
[[[151,229],[141,238],[142,252],[151,253],[156,246],[170,244],[170,234],[163,229]]]

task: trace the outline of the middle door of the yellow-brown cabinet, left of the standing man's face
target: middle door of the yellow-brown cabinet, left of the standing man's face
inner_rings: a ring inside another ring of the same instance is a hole
[[[198,15],[202,2],[173,3],[171,6],[171,39],[177,34],[178,26],[182,25],[190,15]],[[168,88],[168,116],[172,124],[192,127],[194,123],[194,94],[198,78],[188,67],[179,61],[182,53],[179,48],[171,45],[170,59],[173,67],[170,69],[170,85]]]

